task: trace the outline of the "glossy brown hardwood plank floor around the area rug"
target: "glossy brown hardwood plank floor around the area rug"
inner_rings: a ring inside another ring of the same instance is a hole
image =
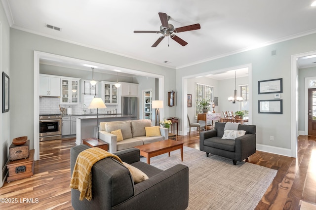
[[[196,131],[177,140],[199,149]],[[72,210],[70,148],[74,145],[74,139],[40,142],[33,177],[5,182],[0,198],[16,198],[13,202],[17,202],[0,203],[0,209]],[[257,151],[248,162],[278,170],[256,210],[297,210],[300,200],[316,203],[316,137],[299,136],[298,158]]]

